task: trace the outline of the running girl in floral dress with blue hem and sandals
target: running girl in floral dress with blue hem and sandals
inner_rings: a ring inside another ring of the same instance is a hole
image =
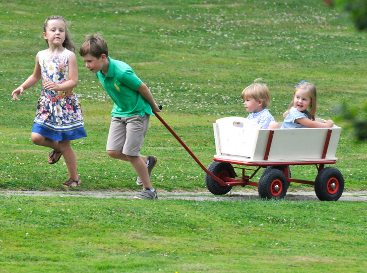
[[[42,79],[42,93],[33,121],[32,142],[49,147],[48,163],[56,163],[63,155],[68,167],[69,180],[65,187],[79,186],[77,159],[71,141],[87,136],[82,109],[73,92],[78,84],[77,58],[71,50],[75,46],[67,34],[66,21],[61,16],[50,16],[43,25],[43,38],[48,49],[39,51],[33,74],[13,91],[14,100],[25,89]]]

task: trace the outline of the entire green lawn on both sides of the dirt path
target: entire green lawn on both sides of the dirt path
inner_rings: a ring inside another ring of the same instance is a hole
[[[343,128],[335,167],[345,190],[366,190],[367,145],[333,111],[346,103],[366,119],[366,34],[321,0],[279,2],[1,2],[0,189],[66,191],[60,186],[68,178],[64,159],[47,164],[49,150],[30,141],[40,83],[20,101],[10,96],[46,48],[44,20],[59,14],[71,21],[78,46],[86,34],[104,35],[110,56],[133,67],[163,105],[162,118],[205,166],[215,154],[212,123],[247,116],[240,93],[256,78],[268,85],[277,120],[295,83],[314,83],[317,115]],[[133,168],[105,152],[111,100],[80,56],[78,71],[75,91],[88,137],[72,142],[82,186],[68,191],[138,190]],[[158,192],[206,191],[204,171],[154,117],[142,153],[158,157],[152,173]],[[291,172],[314,180],[317,170],[296,166]],[[292,183],[292,190],[313,187]],[[152,203],[2,195],[0,271],[364,272],[364,207],[343,201]]]

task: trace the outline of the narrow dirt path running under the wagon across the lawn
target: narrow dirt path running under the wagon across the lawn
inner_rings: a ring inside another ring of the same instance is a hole
[[[131,199],[139,194],[137,191],[0,191],[0,196],[24,195],[24,196],[71,196],[71,197],[92,197],[92,198],[124,198]],[[251,200],[259,199],[257,191],[231,191],[230,194],[215,196],[210,192],[159,192],[158,197],[165,199],[184,199],[184,200]],[[316,200],[313,191],[290,191],[284,200]],[[367,191],[343,192],[339,201],[367,201]]]

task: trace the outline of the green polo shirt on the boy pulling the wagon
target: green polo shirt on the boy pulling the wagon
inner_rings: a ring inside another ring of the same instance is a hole
[[[146,113],[153,115],[152,107],[136,91],[142,81],[135,75],[133,69],[125,62],[108,57],[107,76],[101,71],[96,73],[98,80],[114,102],[111,116],[128,117]]]

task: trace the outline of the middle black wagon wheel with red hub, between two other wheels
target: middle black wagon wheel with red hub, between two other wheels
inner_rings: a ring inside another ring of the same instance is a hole
[[[259,180],[259,196],[262,199],[282,199],[287,193],[288,186],[287,178],[280,170],[268,169]]]

